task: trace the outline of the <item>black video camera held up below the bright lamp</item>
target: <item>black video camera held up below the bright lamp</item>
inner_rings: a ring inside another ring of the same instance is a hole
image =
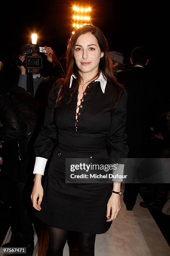
[[[38,55],[34,55],[38,54]],[[19,56],[25,55],[25,60],[22,62],[19,58],[15,60],[17,66],[24,66],[26,69],[41,69],[42,57],[40,56],[40,49],[32,44],[25,44],[20,48]]]

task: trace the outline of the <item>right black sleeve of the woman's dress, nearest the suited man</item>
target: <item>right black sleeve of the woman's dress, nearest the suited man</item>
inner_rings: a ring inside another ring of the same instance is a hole
[[[107,145],[110,146],[110,158],[128,157],[127,136],[125,134],[127,99],[127,92],[124,91],[120,102],[112,110],[111,127],[107,136]]]

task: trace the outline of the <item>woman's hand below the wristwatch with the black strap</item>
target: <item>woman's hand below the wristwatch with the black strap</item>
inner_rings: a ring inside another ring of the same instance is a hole
[[[107,202],[107,222],[115,220],[118,212],[120,211],[120,195],[112,193]]]

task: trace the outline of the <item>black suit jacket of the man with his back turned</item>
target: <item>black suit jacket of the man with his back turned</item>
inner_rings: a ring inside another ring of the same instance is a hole
[[[154,127],[161,113],[161,99],[157,82],[153,75],[143,67],[117,73],[118,82],[125,85],[128,93],[126,134],[130,151],[140,151],[146,146],[150,127]]]

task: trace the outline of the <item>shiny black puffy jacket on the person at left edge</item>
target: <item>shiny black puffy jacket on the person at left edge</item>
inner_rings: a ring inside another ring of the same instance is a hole
[[[26,157],[28,143],[37,125],[37,102],[20,87],[0,94],[0,141],[13,145],[15,159]]]

